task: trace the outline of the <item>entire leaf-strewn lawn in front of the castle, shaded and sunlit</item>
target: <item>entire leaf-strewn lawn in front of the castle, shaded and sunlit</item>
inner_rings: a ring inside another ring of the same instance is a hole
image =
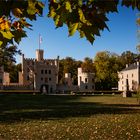
[[[0,95],[1,139],[139,140],[140,106],[119,95]]]

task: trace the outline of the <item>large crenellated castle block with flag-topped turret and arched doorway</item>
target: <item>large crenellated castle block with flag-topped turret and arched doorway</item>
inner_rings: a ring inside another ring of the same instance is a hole
[[[54,93],[58,84],[59,57],[44,59],[44,51],[36,50],[36,58],[25,58],[22,55],[22,72],[19,74],[21,85],[30,85],[34,90]]]

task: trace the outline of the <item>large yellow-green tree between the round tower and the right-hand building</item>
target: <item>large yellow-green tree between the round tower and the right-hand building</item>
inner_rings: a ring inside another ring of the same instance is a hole
[[[94,59],[96,68],[96,89],[110,90],[117,87],[119,59],[118,55],[107,51],[98,52]]]

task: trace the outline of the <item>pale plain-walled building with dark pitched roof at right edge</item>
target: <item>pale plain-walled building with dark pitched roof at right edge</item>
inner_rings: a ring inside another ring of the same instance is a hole
[[[118,90],[135,91],[140,85],[140,64],[139,62],[126,65],[126,68],[118,73]]]

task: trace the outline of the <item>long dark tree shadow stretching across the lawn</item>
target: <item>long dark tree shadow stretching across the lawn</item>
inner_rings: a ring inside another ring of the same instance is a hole
[[[80,96],[4,95],[0,97],[0,122],[89,117],[95,114],[140,113],[138,105],[80,102],[79,98]]]

